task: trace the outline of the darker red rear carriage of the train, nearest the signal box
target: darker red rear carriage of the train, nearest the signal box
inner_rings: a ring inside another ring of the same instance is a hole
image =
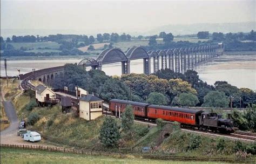
[[[146,108],[150,104],[138,103],[138,102],[129,101],[129,100],[112,99],[110,100],[109,110],[114,113],[119,113],[119,110],[120,110],[120,113],[123,113],[127,105],[132,106],[134,115],[139,117],[146,117],[146,114],[147,114]]]

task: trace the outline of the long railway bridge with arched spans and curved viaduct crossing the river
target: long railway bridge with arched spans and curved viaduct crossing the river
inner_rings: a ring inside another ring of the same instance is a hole
[[[207,59],[220,56],[224,52],[223,44],[212,44],[199,47],[187,47],[181,49],[167,49],[146,52],[143,47],[132,47],[124,53],[118,48],[103,50],[96,59],[85,58],[78,65],[91,67],[92,69],[102,70],[102,65],[110,63],[122,63],[122,74],[130,73],[130,61],[143,59],[144,74],[151,74],[151,60],[153,60],[153,73],[158,70],[169,68],[174,72],[183,73],[193,69]],[[48,69],[37,70],[21,75],[24,81],[36,79],[45,84],[52,84],[53,79],[64,73],[64,66],[51,67]]]

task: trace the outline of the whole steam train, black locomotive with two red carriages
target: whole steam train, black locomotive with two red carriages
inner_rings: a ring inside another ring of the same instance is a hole
[[[216,133],[230,134],[235,131],[233,120],[230,118],[221,118],[221,114],[214,112],[204,112],[192,110],[189,108],[179,108],[163,105],[153,105],[139,103],[136,101],[111,99],[109,110],[113,114],[122,115],[125,107],[131,105],[134,117],[156,121],[163,119],[165,121],[177,121],[181,127],[197,128],[202,131],[212,131]]]

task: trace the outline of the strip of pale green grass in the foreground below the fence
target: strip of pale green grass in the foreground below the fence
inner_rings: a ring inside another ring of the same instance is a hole
[[[90,156],[60,152],[32,151],[14,148],[1,148],[1,163],[176,163],[176,164],[217,164],[220,162],[164,161],[139,158],[112,158],[109,156]]]

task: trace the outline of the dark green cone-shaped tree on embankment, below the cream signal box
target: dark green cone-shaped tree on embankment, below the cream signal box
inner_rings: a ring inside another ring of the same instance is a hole
[[[99,140],[105,147],[116,147],[120,133],[112,117],[106,117],[99,131]]]

